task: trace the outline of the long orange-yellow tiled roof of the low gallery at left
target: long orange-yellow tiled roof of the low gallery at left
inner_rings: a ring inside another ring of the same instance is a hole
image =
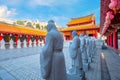
[[[45,36],[47,31],[0,23],[0,32]]]

